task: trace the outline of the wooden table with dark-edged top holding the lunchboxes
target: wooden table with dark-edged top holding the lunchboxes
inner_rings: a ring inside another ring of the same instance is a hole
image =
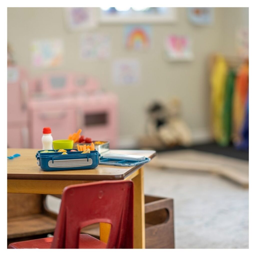
[[[145,248],[145,212],[143,165],[119,167],[98,165],[91,170],[69,170],[44,172],[36,163],[37,149],[8,148],[7,155],[19,153],[21,156],[7,159],[7,193],[62,194],[63,189],[72,184],[97,180],[132,180],[134,183],[134,248]],[[153,158],[151,150],[111,150],[116,154],[144,155]],[[110,224],[100,223],[100,239],[108,240]]]

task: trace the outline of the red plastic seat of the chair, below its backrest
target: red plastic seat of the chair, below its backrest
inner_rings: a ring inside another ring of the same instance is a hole
[[[11,243],[8,249],[50,249],[53,237]],[[106,243],[88,235],[80,234],[79,249],[105,249]]]

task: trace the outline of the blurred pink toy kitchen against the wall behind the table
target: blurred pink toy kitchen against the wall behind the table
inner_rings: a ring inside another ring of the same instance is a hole
[[[51,72],[31,79],[8,66],[7,147],[40,148],[42,128],[54,140],[82,129],[86,137],[118,141],[118,98],[104,92],[97,79],[72,72]]]

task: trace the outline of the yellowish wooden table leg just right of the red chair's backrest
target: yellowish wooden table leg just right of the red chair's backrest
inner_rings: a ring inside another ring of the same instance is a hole
[[[132,181],[134,183],[133,248],[145,249],[145,202],[143,167],[138,170],[138,175],[135,176]]]

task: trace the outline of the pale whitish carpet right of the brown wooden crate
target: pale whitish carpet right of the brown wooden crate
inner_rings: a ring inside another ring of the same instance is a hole
[[[174,199],[175,248],[248,248],[249,192],[208,172],[145,166],[145,194]]]

